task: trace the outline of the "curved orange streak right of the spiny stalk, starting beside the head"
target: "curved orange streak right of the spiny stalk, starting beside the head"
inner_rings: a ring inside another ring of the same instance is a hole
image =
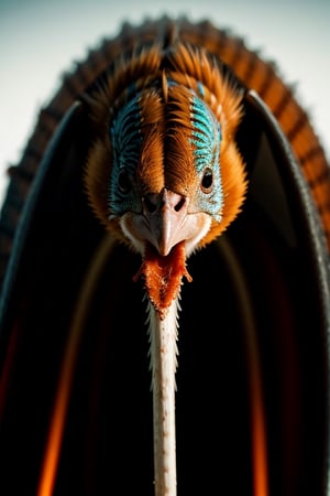
[[[249,301],[249,288],[241,271],[239,260],[229,241],[222,237],[217,241],[218,248],[231,270],[232,281],[239,295],[242,322],[244,322],[249,381],[251,393],[251,431],[253,495],[268,496],[268,465],[266,420],[262,392],[260,352],[257,346],[254,316]]]

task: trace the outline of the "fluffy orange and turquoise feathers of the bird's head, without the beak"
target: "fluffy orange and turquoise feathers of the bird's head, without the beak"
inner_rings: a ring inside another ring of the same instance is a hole
[[[133,100],[135,107],[130,114]],[[244,165],[234,141],[242,115],[242,94],[202,48],[178,42],[166,51],[158,44],[136,50],[130,57],[119,58],[106,84],[88,101],[97,139],[87,161],[86,188],[97,217],[113,234],[127,241],[119,217],[130,208],[139,213],[147,193],[166,187],[194,196],[201,181],[196,172],[199,144],[194,140],[194,133],[199,131],[199,136],[211,137],[210,149],[212,140],[219,147],[219,153],[212,150],[208,157],[217,159],[222,195],[219,212],[212,215],[210,228],[199,246],[213,240],[237,217],[246,190]],[[200,115],[207,116],[199,123],[196,122],[198,106]],[[207,120],[211,121],[210,129],[202,123]],[[124,154],[122,127],[129,121],[131,134],[127,142],[139,141],[134,153],[130,150],[136,163],[133,176],[128,179],[133,185],[134,201],[128,197],[125,206],[120,200],[121,207],[117,211],[109,194],[118,188],[113,180],[118,181]]]

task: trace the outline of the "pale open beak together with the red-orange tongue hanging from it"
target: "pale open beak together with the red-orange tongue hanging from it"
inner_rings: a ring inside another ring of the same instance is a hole
[[[143,197],[142,215],[129,215],[122,227],[141,248],[143,261],[133,278],[140,277],[150,301],[164,319],[178,296],[183,278],[191,280],[186,259],[210,227],[202,212],[188,212],[189,198],[164,188]]]

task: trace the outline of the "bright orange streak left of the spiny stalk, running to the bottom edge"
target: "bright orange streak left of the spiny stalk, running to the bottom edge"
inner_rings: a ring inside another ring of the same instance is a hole
[[[65,349],[62,374],[54,403],[37,496],[51,496],[54,490],[65,428],[65,419],[69,402],[69,393],[73,385],[76,359],[78,356],[81,332],[84,330],[84,322],[88,313],[89,302],[95,285],[99,279],[100,271],[107,261],[109,250],[112,245],[112,239],[106,237],[91,262],[90,269],[87,272],[86,281],[82,284],[81,292],[77,299],[76,309],[73,313],[73,322],[70,325],[68,344]]]

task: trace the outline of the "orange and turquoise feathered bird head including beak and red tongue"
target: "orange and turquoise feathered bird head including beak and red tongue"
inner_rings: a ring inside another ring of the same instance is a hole
[[[204,50],[155,44],[121,57],[88,101],[89,203],[142,255],[135,278],[162,317],[183,277],[190,280],[187,257],[223,233],[243,203],[234,141],[242,94]]]

